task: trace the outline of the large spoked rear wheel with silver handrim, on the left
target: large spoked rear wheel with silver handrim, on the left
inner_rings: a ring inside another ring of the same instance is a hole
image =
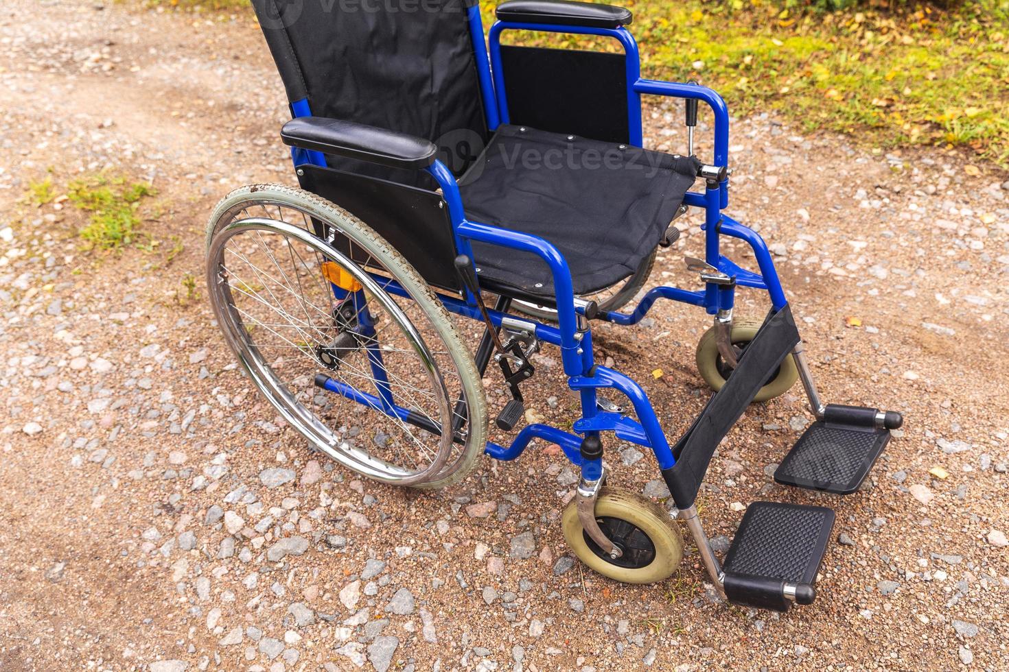
[[[315,194],[254,185],[218,205],[207,245],[228,345],[315,447],[401,486],[469,472],[486,443],[480,376],[427,283],[376,233]]]

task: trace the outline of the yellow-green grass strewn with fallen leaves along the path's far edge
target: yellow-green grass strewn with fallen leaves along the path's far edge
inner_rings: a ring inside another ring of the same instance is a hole
[[[697,80],[718,91],[734,114],[770,112],[806,132],[838,131],[884,149],[961,146],[1009,167],[1009,0],[893,13],[854,5],[910,3],[611,1],[634,11],[645,77]],[[251,16],[248,0],[146,2]],[[496,4],[481,2],[484,25]],[[826,11],[832,7],[845,9]],[[518,37],[551,46],[591,43]]]

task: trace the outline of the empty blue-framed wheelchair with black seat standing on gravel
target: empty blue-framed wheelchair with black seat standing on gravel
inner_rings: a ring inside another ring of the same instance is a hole
[[[820,400],[767,245],[724,213],[722,99],[643,78],[632,14],[615,6],[507,0],[486,35],[471,0],[253,6],[290,102],[281,137],[300,188],[254,184],[217,206],[207,282],[226,342],[284,420],[346,468],[419,489],[459,482],[481,454],[556,444],[580,473],[564,538],[596,572],[670,576],[678,520],[721,597],[811,603],[833,511],[752,503],[719,560],[697,506],[712,455],[752,402],[799,379],[815,420],[774,479],[851,494],[902,418]],[[502,43],[516,31],[616,48]],[[685,101],[686,153],[643,147],[643,96]],[[709,162],[693,149],[699,103],[712,115]],[[704,220],[704,258],[686,260],[700,288],[646,289],[689,209]],[[749,245],[756,270],[721,254],[726,236]],[[767,293],[765,318],[734,315],[739,287]],[[697,351],[713,394],[673,441],[643,387],[592,353],[593,322],[637,324],[659,299],[713,322]],[[546,346],[580,404],[569,428],[526,412]],[[510,440],[489,439],[492,412]],[[606,485],[612,436],[652,451],[674,509]]]

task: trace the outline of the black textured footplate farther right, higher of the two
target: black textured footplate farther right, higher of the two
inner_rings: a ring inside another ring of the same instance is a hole
[[[854,493],[899,427],[899,413],[874,408],[827,406],[781,460],[774,480],[785,486],[836,495]]]

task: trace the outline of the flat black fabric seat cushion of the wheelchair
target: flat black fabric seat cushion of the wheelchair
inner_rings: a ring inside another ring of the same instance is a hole
[[[460,179],[466,218],[540,236],[585,294],[630,276],[665,234],[697,175],[695,158],[524,126],[497,129]],[[552,296],[539,257],[474,244],[481,283]]]

